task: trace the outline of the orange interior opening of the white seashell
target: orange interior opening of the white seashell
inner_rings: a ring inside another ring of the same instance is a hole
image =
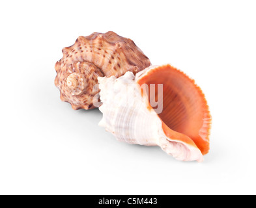
[[[147,84],[149,94],[150,84],[163,84],[163,110],[158,116],[165,135],[196,145],[203,155],[208,153],[211,116],[203,92],[192,79],[165,65],[150,70],[138,84]],[[158,98],[157,89],[156,86],[155,98]]]

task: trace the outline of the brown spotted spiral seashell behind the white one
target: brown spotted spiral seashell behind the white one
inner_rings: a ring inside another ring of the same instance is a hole
[[[61,100],[74,110],[93,109],[93,99],[98,101],[98,77],[120,77],[150,66],[150,60],[128,38],[115,32],[79,36],[74,45],[63,48],[63,58],[55,64],[55,85]]]

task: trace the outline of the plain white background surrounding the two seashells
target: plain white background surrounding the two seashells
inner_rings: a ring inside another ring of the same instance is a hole
[[[1,1],[0,194],[256,194],[255,1]],[[61,49],[114,31],[195,79],[205,161],[115,140],[54,85]]]

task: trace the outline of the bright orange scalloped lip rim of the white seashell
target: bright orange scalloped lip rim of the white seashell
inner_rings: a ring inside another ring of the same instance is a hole
[[[201,118],[200,118],[201,119],[201,128],[197,129],[198,136],[188,136],[188,138],[190,138],[191,140],[189,140],[186,137],[180,138],[178,140],[185,139],[187,144],[190,144],[196,148],[199,148],[201,153],[203,155],[205,155],[206,153],[208,153],[208,151],[210,149],[209,136],[210,136],[212,116],[210,115],[210,110],[209,110],[208,104],[205,99],[205,94],[203,94],[203,91],[201,90],[201,88],[195,84],[195,81],[193,79],[191,79],[190,77],[188,77],[188,75],[186,75],[184,72],[171,66],[171,64],[165,64],[162,66],[150,66],[148,68],[148,70],[143,70],[136,74],[136,81],[139,85],[142,85],[142,84],[146,83],[146,80],[149,79],[150,76],[155,76],[156,72],[159,72],[159,71],[163,73],[164,70],[165,71],[169,70],[169,72],[173,72],[173,74],[177,74],[177,76],[182,77],[182,79],[184,79],[184,82],[186,82],[192,86],[193,95],[197,96],[201,102],[201,107],[202,107],[200,109],[202,111]],[[148,106],[150,109],[152,109],[152,107],[150,105],[148,105]],[[173,134],[173,130],[175,131],[175,129],[171,129],[162,120],[163,118],[161,115],[158,114],[158,117],[162,121],[162,127],[163,127],[165,135]],[[199,122],[200,122],[200,120],[199,120]],[[183,132],[180,132],[180,131],[177,131],[177,132],[179,134],[183,134]],[[186,133],[184,133],[184,135],[186,135]]]

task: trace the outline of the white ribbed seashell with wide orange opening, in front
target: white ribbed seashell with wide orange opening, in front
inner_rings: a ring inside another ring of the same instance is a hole
[[[167,64],[98,80],[99,125],[117,140],[160,146],[180,161],[203,161],[211,116],[203,92],[187,75]]]

